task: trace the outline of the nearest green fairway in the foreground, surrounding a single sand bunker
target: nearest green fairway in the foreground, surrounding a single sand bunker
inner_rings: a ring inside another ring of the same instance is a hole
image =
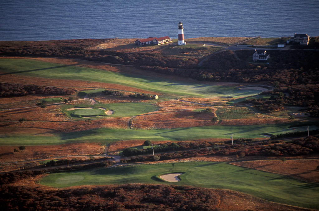
[[[157,176],[185,172],[178,183],[160,181]],[[49,174],[40,184],[52,187],[106,184],[174,184],[221,188],[245,192],[265,200],[293,206],[319,208],[318,184],[306,183],[223,162],[180,162],[128,165],[86,171]]]

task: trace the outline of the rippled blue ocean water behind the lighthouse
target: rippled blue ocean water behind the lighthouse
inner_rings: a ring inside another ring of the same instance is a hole
[[[319,35],[319,0],[1,0],[0,40]]]

